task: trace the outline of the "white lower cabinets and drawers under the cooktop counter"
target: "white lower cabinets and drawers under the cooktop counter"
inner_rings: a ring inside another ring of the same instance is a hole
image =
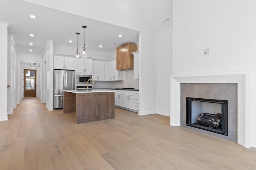
[[[116,90],[115,105],[127,109],[139,110],[139,92],[128,90]]]

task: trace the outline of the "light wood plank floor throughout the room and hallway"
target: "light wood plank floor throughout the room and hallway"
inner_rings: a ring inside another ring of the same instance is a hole
[[[116,108],[116,118],[75,123],[24,98],[0,122],[0,170],[256,169],[256,148],[171,127],[169,117]]]

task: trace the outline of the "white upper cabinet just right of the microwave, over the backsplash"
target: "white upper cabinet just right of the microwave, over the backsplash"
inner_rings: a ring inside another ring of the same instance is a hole
[[[93,80],[105,80],[105,68],[104,61],[92,62],[92,79]]]

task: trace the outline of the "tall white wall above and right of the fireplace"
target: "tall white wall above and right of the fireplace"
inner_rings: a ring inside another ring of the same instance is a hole
[[[252,70],[256,87],[255,7],[255,0],[174,0],[173,74]],[[255,103],[255,88],[252,96]],[[256,147],[255,123],[251,129]]]

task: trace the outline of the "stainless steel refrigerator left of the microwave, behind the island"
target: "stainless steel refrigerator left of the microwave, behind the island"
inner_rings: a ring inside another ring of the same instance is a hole
[[[54,97],[53,108],[63,108],[63,91],[75,90],[75,71],[73,70],[54,70]]]

